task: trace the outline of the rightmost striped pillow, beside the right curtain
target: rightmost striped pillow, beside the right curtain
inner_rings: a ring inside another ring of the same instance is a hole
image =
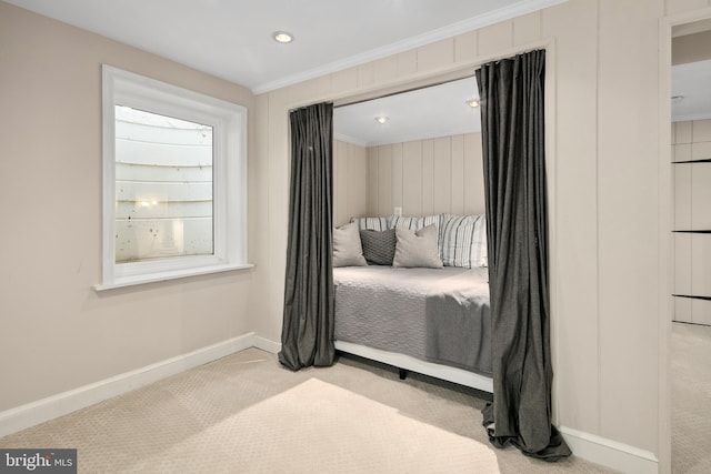
[[[444,214],[440,231],[442,263],[474,269],[488,265],[487,218]]]

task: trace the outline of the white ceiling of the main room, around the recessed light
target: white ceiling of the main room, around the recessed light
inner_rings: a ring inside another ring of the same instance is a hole
[[[262,93],[567,0],[3,1]]]

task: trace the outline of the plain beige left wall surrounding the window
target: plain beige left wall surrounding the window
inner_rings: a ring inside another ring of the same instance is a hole
[[[254,117],[248,89],[0,2],[0,412],[252,330],[253,272],[92,290],[101,279],[101,63]],[[254,158],[252,149],[251,170]],[[252,258],[254,218],[251,206]]]

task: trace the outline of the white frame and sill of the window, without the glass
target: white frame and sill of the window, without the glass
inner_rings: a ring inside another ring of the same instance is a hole
[[[166,82],[102,67],[102,282],[97,291],[248,269],[247,108]],[[213,254],[116,263],[116,105],[213,128]]]

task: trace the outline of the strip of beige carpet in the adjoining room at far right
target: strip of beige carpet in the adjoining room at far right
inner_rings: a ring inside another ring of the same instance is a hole
[[[711,327],[674,323],[671,337],[674,474],[711,473]]]

